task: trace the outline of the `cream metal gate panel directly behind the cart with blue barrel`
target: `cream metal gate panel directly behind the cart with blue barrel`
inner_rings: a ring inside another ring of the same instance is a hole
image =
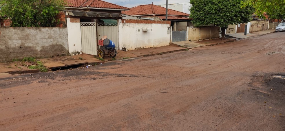
[[[112,40],[115,46],[118,47],[118,23],[97,23],[97,35],[98,40],[100,40],[102,36],[107,36],[107,38]]]

